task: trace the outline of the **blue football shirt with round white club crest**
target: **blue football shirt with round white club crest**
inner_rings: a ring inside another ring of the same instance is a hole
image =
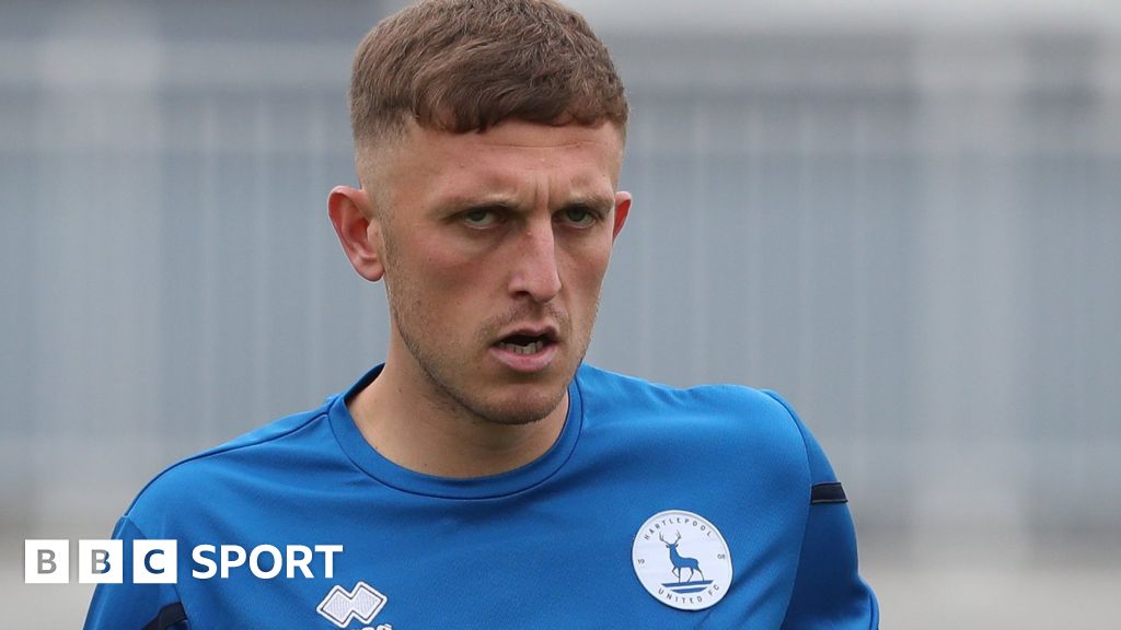
[[[149,483],[86,630],[878,627],[844,492],[775,393],[582,365],[547,453],[444,479],[359,433],[379,371]],[[133,583],[135,540],[176,541],[174,584]]]

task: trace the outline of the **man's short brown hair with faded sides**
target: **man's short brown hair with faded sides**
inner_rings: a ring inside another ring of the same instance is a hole
[[[464,133],[508,119],[627,126],[606,47],[553,0],[423,0],[359,45],[350,91],[361,148],[404,129]]]

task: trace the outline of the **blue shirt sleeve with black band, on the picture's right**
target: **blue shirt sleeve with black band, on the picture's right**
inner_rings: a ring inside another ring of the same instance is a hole
[[[860,577],[856,530],[844,489],[797,414],[778,395],[767,393],[786,408],[802,432],[810,474],[806,530],[782,629],[878,629],[879,604],[871,587]]]

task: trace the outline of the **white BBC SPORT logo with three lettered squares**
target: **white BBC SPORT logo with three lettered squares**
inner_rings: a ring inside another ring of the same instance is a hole
[[[71,541],[65,539],[24,541],[24,582],[26,584],[68,584],[71,581]],[[133,584],[175,584],[178,582],[176,540],[132,541]],[[195,580],[226,578],[232,572],[249,571],[258,580],[281,574],[293,580],[334,577],[335,554],[342,545],[258,545],[247,550],[240,545],[197,545],[191,552],[191,576]],[[121,540],[78,540],[77,581],[81,584],[120,584],[124,580],[124,544]],[[322,569],[322,571],[319,571]]]

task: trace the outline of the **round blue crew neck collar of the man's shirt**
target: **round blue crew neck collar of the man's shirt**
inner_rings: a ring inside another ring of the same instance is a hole
[[[400,466],[379,453],[362,436],[354,417],[346,408],[359,391],[373,382],[385,363],[362,376],[350,389],[331,401],[328,417],[339,446],[363,472],[379,482],[411,494],[444,499],[494,499],[528,490],[553,476],[572,456],[584,424],[584,406],[580,395],[580,371],[568,383],[568,414],[553,446],[532,462],[499,474],[474,478],[446,478],[419,473]]]

